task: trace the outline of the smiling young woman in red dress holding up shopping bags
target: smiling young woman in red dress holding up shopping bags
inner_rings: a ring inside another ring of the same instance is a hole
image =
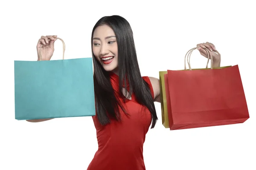
[[[43,60],[50,60],[57,36],[42,36],[38,41]],[[130,24],[120,16],[102,17],[91,37],[94,65],[96,127],[99,148],[87,170],[145,170],[143,143],[151,125],[157,121],[154,102],[160,102],[159,79],[140,74]],[[212,43],[197,46],[213,66],[220,66],[220,54]],[[215,52],[214,52],[215,51]],[[42,122],[49,119],[29,120]]]

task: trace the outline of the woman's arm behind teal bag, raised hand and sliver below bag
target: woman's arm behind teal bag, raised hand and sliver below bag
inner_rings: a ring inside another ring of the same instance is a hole
[[[40,54],[39,54],[40,48],[41,48],[42,60],[51,59],[54,52],[54,42],[57,40],[56,37],[57,35],[41,36],[41,38],[38,40],[38,44],[36,45],[38,61],[40,61]],[[51,119],[32,119],[32,120],[26,120],[26,121],[27,122],[44,122]]]

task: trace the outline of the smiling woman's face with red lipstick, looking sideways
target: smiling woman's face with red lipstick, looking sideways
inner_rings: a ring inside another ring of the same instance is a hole
[[[93,54],[106,71],[118,69],[116,35],[107,25],[98,26],[93,33]]]

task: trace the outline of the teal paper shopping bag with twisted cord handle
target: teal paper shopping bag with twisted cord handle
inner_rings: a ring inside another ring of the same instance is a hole
[[[61,41],[63,59],[14,62],[15,119],[95,115],[92,58],[64,59]]]

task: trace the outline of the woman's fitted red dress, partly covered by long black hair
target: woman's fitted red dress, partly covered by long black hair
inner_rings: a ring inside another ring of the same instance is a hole
[[[110,76],[114,90],[118,91],[118,76]],[[143,79],[150,85],[154,97],[150,79]],[[130,116],[119,108],[122,122],[111,120],[110,124],[102,126],[97,116],[93,116],[99,148],[87,170],[145,170],[143,144],[151,125],[151,113],[137,103],[133,94],[123,106]]]

